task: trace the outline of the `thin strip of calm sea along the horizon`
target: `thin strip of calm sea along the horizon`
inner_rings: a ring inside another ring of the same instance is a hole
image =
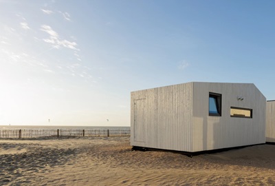
[[[102,127],[102,126],[41,126],[41,125],[0,125],[0,130],[15,129],[77,129],[77,130],[129,130],[130,127]]]

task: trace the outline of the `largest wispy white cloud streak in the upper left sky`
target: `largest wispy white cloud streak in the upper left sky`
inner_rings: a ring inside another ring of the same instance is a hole
[[[58,33],[52,30],[50,25],[41,25],[41,30],[50,35],[49,38],[43,39],[43,41],[45,41],[46,43],[51,43],[54,48],[64,47],[72,50],[79,50],[78,48],[76,48],[76,42],[68,41],[67,39],[60,39]]]

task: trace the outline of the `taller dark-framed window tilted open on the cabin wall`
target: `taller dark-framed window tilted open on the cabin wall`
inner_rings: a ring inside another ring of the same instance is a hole
[[[209,92],[209,116],[221,116],[221,94]]]

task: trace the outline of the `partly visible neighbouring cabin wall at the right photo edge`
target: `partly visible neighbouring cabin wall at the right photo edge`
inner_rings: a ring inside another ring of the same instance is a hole
[[[267,101],[265,136],[267,142],[275,143],[275,101]]]

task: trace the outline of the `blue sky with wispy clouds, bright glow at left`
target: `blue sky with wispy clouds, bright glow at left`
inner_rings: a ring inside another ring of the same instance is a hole
[[[275,99],[275,1],[0,0],[0,125],[129,126],[130,93],[254,83]]]

